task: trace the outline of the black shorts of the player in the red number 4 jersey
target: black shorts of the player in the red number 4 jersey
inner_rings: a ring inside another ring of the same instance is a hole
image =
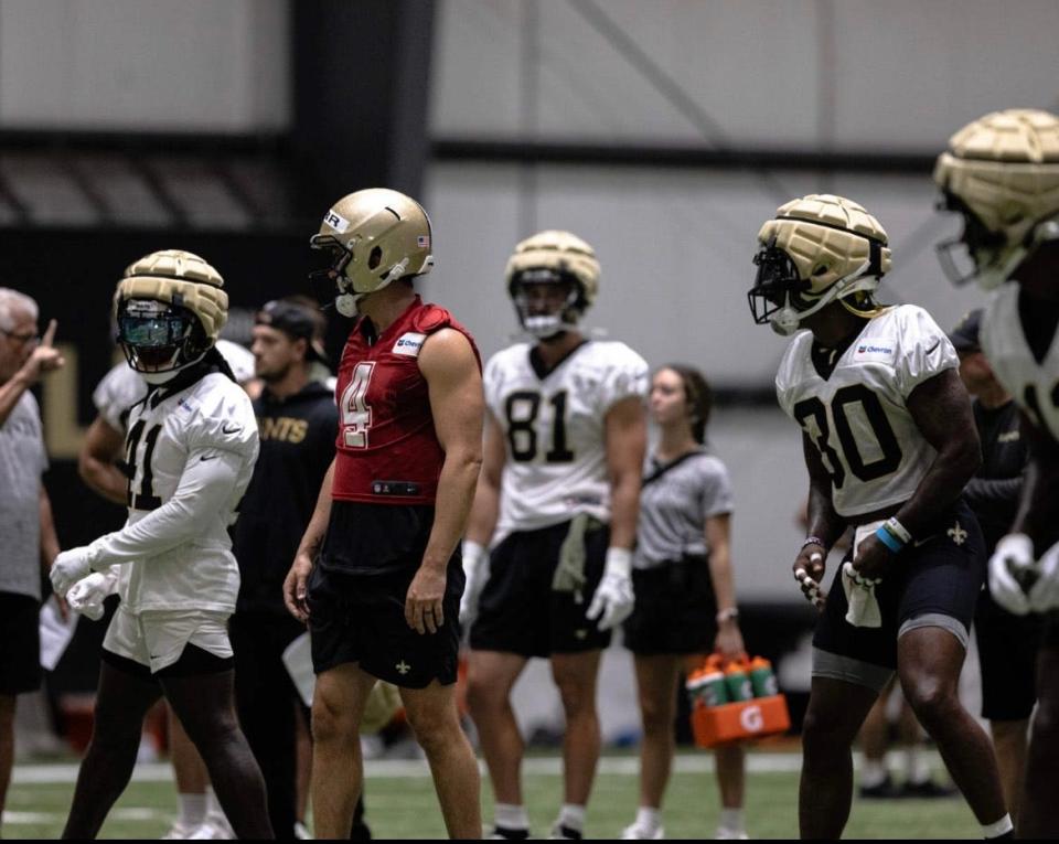
[[[422,517],[427,512],[430,519]],[[333,565],[327,549],[321,555],[307,595],[317,674],[352,662],[405,688],[425,688],[435,680],[442,685],[456,682],[464,584],[459,546],[448,565],[441,627],[436,633],[419,634],[405,621],[405,598],[422,563],[432,514],[429,508],[377,506],[374,517],[364,520],[366,533],[377,543],[372,558],[386,560],[388,570],[351,571]],[[387,524],[394,530],[386,530]],[[347,525],[345,535],[355,530]],[[332,538],[328,546],[333,546]],[[363,543],[359,547],[367,551]],[[351,559],[347,552],[343,555]]]

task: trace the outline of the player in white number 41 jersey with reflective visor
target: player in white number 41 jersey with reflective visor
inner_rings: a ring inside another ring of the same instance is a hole
[[[176,249],[130,265],[114,298],[129,366],[147,382],[128,419],[129,519],[61,554],[56,594],[76,607],[116,590],[95,728],[66,824],[94,837],[128,783],[143,715],[164,696],[199,749],[238,837],[271,837],[260,771],[233,704],[226,623],[238,567],[228,525],[257,458],[250,400],[216,350],[223,279]]]

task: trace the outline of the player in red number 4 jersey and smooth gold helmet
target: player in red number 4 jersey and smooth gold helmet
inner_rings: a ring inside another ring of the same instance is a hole
[[[414,200],[349,194],[312,244],[333,256],[339,311],[357,317],[339,367],[338,453],[284,586],[312,637],[315,833],[349,834],[364,704],[386,680],[426,751],[449,835],[479,837],[478,761],[456,706],[457,545],[482,460],[478,350],[413,288],[434,266],[430,221]]]

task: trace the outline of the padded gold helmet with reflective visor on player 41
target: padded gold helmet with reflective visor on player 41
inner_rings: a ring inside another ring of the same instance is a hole
[[[224,279],[205,260],[163,249],[130,264],[114,295],[118,342],[149,384],[201,361],[228,319]]]

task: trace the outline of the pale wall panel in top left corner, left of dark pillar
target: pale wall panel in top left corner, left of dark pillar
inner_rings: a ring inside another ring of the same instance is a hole
[[[284,0],[2,0],[0,126],[280,129],[287,33]]]

